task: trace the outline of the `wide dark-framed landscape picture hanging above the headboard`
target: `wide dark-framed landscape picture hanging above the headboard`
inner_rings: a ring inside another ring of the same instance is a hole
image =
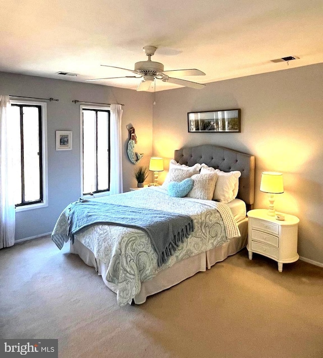
[[[189,133],[240,133],[241,110],[187,113]]]

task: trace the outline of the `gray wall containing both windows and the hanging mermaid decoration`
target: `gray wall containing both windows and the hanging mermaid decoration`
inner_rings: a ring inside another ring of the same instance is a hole
[[[80,197],[80,105],[73,99],[100,103],[121,103],[124,191],[135,186],[135,166],[126,153],[127,126],[136,129],[136,151],[148,165],[152,151],[152,94],[128,89],[0,73],[0,93],[30,97],[59,98],[47,103],[48,207],[16,214],[16,240],[51,232],[62,210]],[[56,151],[56,131],[73,131],[73,150]],[[149,181],[152,180],[149,178]]]

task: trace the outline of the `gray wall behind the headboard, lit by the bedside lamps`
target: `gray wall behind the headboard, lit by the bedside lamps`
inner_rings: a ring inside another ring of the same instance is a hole
[[[236,108],[241,133],[187,132],[187,112]],[[153,154],[170,159],[174,149],[204,143],[255,156],[255,208],[268,206],[261,172],[283,173],[275,208],[300,218],[298,252],[323,264],[323,64],[157,92]]]

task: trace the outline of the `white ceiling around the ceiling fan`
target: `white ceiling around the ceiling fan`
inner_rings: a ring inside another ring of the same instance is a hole
[[[200,83],[323,62],[322,0],[3,0],[0,19],[0,71],[78,82],[133,75],[100,65],[134,69],[145,45],[165,70],[205,72],[183,77]],[[287,56],[299,59],[271,62]],[[156,90],[176,87],[156,81]]]

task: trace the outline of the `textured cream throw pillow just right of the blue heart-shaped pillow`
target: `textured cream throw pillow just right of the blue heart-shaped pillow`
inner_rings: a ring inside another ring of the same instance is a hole
[[[187,194],[187,197],[202,200],[212,200],[214,187],[218,176],[214,173],[194,174],[190,179],[193,179],[193,189]]]

